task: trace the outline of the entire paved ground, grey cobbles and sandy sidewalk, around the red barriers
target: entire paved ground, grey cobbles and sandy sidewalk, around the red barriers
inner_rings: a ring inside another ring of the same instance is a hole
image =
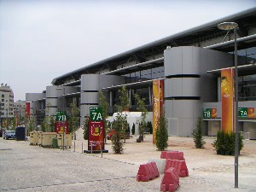
[[[72,148],[42,148],[28,142],[0,138],[0,191],[160,191],[163,174],[149,182],[137,182],[139,165],[160,159],[152,135],[143,143],[127,139],[124,154],[82,154],[87,148],[82,130]],[[169,137],[169,150],[184,153],[189,177],[180,178],[177,191],[256,191],[256,141],[245,143],[239,157],[239,189],[234,188],[234,157],[194,148],[193,138]],[[74,148],[75,145],[75,148]]]

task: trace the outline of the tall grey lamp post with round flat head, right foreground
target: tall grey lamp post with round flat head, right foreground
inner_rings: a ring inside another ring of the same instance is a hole
[[[236,44],[236,29],[238,25],[235,22],[224,22],[218,24],[218,29],[234,30],[235,39],[235,188],[238,188],[238,155],[239,155],[239,137],[238,137],[238,70],[237,70],[237,44]]]

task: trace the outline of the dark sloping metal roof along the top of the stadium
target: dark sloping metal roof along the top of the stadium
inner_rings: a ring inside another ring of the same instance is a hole
[[[163,65],[162,58],[160,58],[162,59],[162,61],[158,59],[156,59],[155,61],[147,61],[147,58],[149,56],[153,56],[154,58],[154,55],[163,54],[167,46],[201,47],[201,42],[205,42],[207,40],[214,39],[214,38],[223,37],[226,34],[226,32],[218,30],[217,25],[224,21],[236,22],[239,26],[239,29],[237,31],[239,38],[247,37],[248,31],[256,27],[256,8],[247,9],[236,15],[230,15],[219,20],[214,20],[202,26],[196,26],[195,28],[192,28],[183,32],[179,32],[177,34],[168,36],[166,38],[161,38],[160,40],[154,41],[152,43],[145,44],[135,49],[125,51],[124,53],[121,53],[119,55],[114,55],[105,60],[87,65],[85,67],[74,70],[73,72],[63,74],[60,77],[53,79],[52,84],[53,85],[65,84],[67,79],[73,79],[73,81],[75,81],[76,84],[78,84],[79,78],[82,74],[99,73],[104,69],[109,69],[109,72],[105,74],[121,75],[121,74],[124,74],[124,70],[117,69],[117,66],[125,64],[129,61],[135,61],[137,64],[139,64],[139,65],[135,64],[137,65],[137,67],[146,67],[146,64],[150,64],[151,67],[152,65],[155,65],[155,64],[157,64],[158,66]],[[222,42],[218,42],[218,43],[222,43]],[[255,44],[256,44],[256,37],[254,35],[253,37],[251,37],[251,39],[247,41],[244,40],[241,43],[239,43],[238,49],[246,49],[247,47],[251,47]],[[224,44],[215,44],[214,47],[209,46],[206,48],[218,49],[225,52],[229,52],[233,50],[233,46],[231,46],[231,42],[230,44],[227,44],[226,42]],[[129,69],[128,71],[129,73],[131,73],[133,70],[136,70],[135,65],[134,67],[127,68]]]

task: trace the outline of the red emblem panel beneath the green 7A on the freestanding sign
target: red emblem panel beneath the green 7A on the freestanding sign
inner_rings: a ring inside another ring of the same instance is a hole
[[[88,124],[88,150],[93,151],[104,150],[104,123],[91,122]]]

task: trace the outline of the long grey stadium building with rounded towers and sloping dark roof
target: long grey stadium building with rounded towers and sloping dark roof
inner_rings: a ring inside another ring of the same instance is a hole
[[[90,107],[98,105],[102,90],[109,102],[109,114],[113,114],[122,86],[129,92],[130,111],[136,111],[134,94],[138,93],[152,112],[153,82],[160,79],[164,81],[169,135],[191,136],[199,115],[206,123],[205,135],[216,135],[224,116],[222,71],[235,65],[234,30],[227,34],[218,29],[222,22],[238,24],[239,127],[256,139],[256,9],[196,26],[90,65],[86,63],[85,67],[53,79],[42,93],[26,93],[30,113],[40,123],[44,115],[62,110],[64,101],[65,108],[76,102],[82,123]]]

